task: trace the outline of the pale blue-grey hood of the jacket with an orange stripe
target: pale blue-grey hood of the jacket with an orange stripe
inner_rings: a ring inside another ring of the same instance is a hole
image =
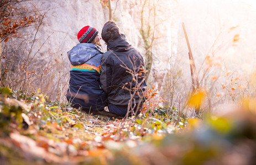
[[[97,54],[102,54],[101,47],[95,43],[79,43],[67,52],[72,65],[81,65]]]

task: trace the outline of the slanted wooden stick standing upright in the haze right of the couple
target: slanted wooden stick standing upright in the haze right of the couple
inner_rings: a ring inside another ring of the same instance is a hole
[[[189,44],[189,37],[187,37],[187,32],[186,32],[184,23],[182,23],[182,27],[183,27],[183,31],[185,34],[187,47],[189,48],[189,61],[190,61],[190,72],[191,72],[191,79],[192,79],[192,90],[195,91],[195,89],[199,86],[198,76],[197,76],[197,72],[196,72],[196,65],[195,65],[194,58],[192,56],[192,51],[191,51],[190,44]]]

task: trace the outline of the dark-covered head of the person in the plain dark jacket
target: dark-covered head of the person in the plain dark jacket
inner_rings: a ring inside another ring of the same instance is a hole
[[[102,28],[102,40],[108,43],[108,41],[116,40],[119,35],[121,35],[121,32],[117,23],[111,20],[107,21],[107,23]]]

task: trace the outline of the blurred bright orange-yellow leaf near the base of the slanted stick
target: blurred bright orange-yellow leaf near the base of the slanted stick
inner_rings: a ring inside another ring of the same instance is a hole
[[[187,105],[190,107],[198,107],[201,105],[201,102],[206,96],[205,90],[198,90],[196,92],[193,92],[191,97],[189,98],[189,101],[187,102]]]

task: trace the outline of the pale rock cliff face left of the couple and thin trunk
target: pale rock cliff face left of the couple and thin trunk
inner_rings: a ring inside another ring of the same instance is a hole
[[[46,15],[33,46],[32,54],[42,46],[33,59],[34,67],[38,64],[40,67],[53,67],[49,78],[44,79],[39,87],[46,95],[65,100],[70,70],[66,52],[79,43],[77,32],[83,26],[90,25],[101,31],[108,20],[108,10],[100,1],[92,0],[40,0],[28,3],[35,6],[40,14]],[[30,31],[35,32],[37,27],[30,27]]]

